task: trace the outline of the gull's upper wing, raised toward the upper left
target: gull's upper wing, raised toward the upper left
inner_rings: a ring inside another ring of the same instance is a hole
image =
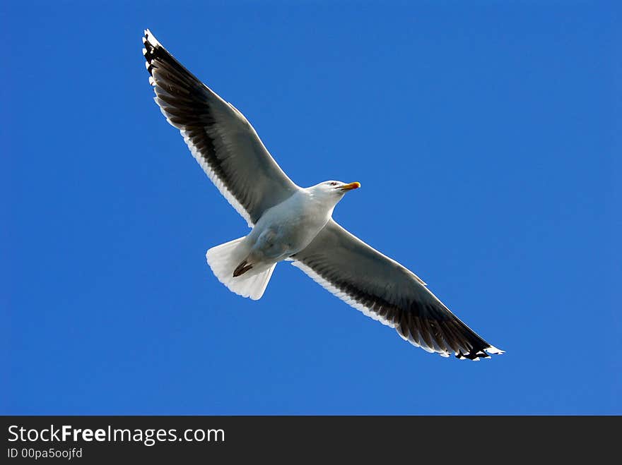
[[[155,102],[249,226],[298,190],[240,111],[184,68],[149,30],[143,44]]]

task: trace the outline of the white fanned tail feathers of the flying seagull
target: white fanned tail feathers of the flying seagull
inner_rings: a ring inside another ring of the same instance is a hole
[[[207,263],[218,281],[242,297],[257,301],[264,295],[276,264],[256,265],[244,274],[233,276],[250,250],[242,243],[243,237],[212,247],[205,254]]]

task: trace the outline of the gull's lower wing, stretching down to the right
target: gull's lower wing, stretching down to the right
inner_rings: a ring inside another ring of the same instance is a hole
[[[413,272],[332,219],[292,258],[337,297],[428,352],[471,360],[503,353],[451,313]]]

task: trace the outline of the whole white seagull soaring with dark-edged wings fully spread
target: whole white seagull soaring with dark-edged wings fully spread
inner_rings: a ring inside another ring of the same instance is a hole
[[[206,253],[213,274],[230,291],[261,298],[276,264],[287,260],[430,353],[474,361],[503,354],[459,320],[416,274],[332,219],[336,204],[360,183],[324,181],[299,187],[276,164],[245,116],[184,68],[149,30],[143,46],[155,103],[252,228],[247,236]]]

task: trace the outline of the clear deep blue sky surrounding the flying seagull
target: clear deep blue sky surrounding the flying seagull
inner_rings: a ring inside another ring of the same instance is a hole
[[[132,3],[0,6],[0,413],[622,413],[619,4]],[[427,354],[287,263],[218,283],[247,227],[144,28],[507,354]]]

